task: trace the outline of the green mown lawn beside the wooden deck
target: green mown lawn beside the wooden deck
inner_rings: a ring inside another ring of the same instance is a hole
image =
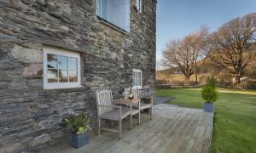
[[[158,89],[168,104],[203,108],[201,88]],[[256,91],[218,88],[211,152],[256,152]]]

